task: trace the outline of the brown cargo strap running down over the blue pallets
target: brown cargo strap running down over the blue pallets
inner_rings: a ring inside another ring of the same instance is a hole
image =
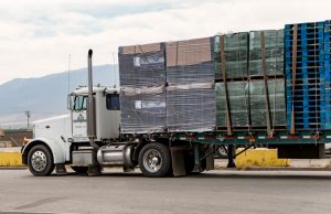
[[[296,133],[295,125],[295,89],[296,89],[296,76],[297,76],[297,38],[298,38],[298,24],[293,24],[293,36],[292,36],[292,93],[291,93],[291,129],[290,135]]]

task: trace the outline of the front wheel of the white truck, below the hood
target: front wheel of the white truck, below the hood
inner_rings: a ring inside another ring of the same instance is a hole
[[[55,168],[50,149],[44,145],[34,146],[28,153],[28,168],[35,176],[50,175]]]

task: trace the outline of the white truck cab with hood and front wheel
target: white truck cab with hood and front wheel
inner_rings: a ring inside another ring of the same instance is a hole
[[[95,142],[105,145],[118,140],[119,88],[93,87],[93,96],[96,108]],[[53,171],[55,164],[73,163],[73,159],[77,157],[73,150],[78,150],[81,146],[88,148],[87,97],[87,87],[77,88],[68,96],[68,115],[33,122],[34,138],[22,148],[22,161],[28,164],[33,174],[45,175]],[[78,162],[81,164],[82,160]]]

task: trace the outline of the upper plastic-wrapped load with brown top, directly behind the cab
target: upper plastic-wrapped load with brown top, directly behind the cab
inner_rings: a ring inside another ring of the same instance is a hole
[[[166,85],[164,43],[119,47],[120,86],[150,87]]]

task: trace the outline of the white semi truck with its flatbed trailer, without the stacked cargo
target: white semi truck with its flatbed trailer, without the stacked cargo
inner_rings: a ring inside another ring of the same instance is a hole
[[[235,157],[256,145],[278,148],[280,158],[323,158],[331,139],[331,131],[313,130],[121,133],[119,88],[93,87],[92,54],[89,50],[88,87],[68,96],[70,114],[35,121],[34,138],[23,143],[22,161],[33,175],[49,175],[54,168],[66,174],[66,165],[88,175],[139,165],[146,176],[180,176],[212,170],[220,147],[226,148],[228,167],[235,167]],[[235,153],[236,146],[245,149]]]

